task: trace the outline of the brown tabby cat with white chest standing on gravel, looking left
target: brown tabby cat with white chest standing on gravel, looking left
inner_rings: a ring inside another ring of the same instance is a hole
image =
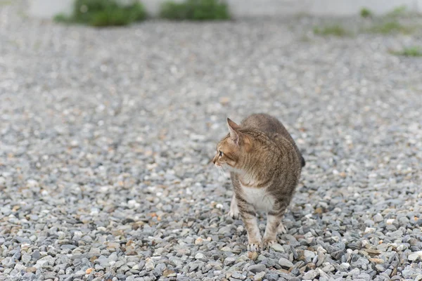
[[[281,222],[305,166],[298,147],[278,119],[252,114],[240,125],[227,118],[229,133],[217,144],[212,162],[230,172],[234,195],[229,216],[241,216],[248,233],[248,251],[260,251],[286,233]],[[256,211],[267,212],[262,239]]]

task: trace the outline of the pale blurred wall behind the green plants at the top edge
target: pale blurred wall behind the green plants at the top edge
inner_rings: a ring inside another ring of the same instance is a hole
[[[70,13],[74,0],[31,0],[30,15],[52,18],[57,13]],[[141,0],[148,13],[156,15],[165,0]],[[176,0],[183,1],[183,0]],[[308,13],[310,15],[357,15],[362,7],[377,14],[407,6],[422,12],[422,0],[226,0],[235,18]]]

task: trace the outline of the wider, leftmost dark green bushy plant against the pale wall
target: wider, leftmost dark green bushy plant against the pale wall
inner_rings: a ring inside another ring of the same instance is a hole
[[[54,20],[106,27],[129,25],[145,18],[145,8],[139,1],[121,5],[115,0],[76,0],[70,17],[59,14]]]

